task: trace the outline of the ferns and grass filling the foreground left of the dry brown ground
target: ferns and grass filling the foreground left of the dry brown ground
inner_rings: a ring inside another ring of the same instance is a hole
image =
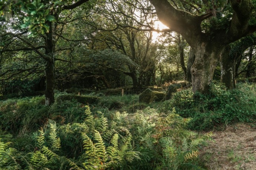
[[[122,109],[137,100],[109,99],[122,101]],[[9,99],[0,107],[0,169],[196,170],[203,169],[198,147],[211,140],[211,133],[188,130],[191,119],[175,110],[161,113],[145,105],[133,112],[91,105],[91,111],[76,101],[47,107],[38,96]]]

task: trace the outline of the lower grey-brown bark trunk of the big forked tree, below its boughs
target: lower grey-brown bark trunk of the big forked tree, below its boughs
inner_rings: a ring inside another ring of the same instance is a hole
[[[213,44],[197,44],[195,49],[196,59],[191,67],[192,91],[208,93],[213,73],[220,56],[220,47]]]

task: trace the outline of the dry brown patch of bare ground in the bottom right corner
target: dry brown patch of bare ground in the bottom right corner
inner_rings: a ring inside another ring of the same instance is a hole
[[[248,123],[213,132],[215,142],[200,151],[209,170],[256,170],[256,128]]]

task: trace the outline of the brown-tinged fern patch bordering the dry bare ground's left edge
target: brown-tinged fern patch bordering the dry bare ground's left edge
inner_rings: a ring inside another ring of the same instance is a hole
[[[141,153],[134,169],[201,169],[197,147],[211,140],[212,134],[187,130],[191,119],[182,118],[175,110],[164,114],[148,107],[138,110],[128,121],[135,151]]]

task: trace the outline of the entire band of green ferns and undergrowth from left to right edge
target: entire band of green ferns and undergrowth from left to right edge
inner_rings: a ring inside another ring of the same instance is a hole
[[[203,169],[199,150],[212,133],[191,129],[256,115],[255,84],[212,84],[206,95],[185,89],[150,104],[138,95],[94,95],[100,99],[90,106],[70,99],[49,107],[44,96],[0,101],[0,169]]]

